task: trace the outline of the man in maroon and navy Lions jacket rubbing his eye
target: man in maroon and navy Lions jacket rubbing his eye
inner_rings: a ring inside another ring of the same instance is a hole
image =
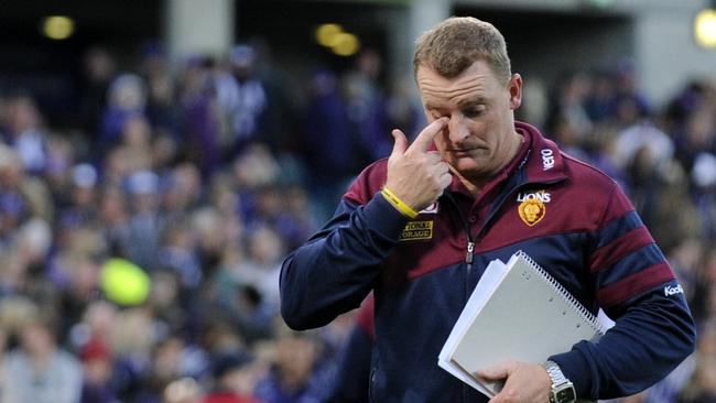
[[[373,290],[372,401],[486,401],[437,355],[487,263],[521,249],[617,324],[544,364],[478,372],[506,381],[492,402],[628,395],[691,353],[683,292],[617,184],[514,121],[522,78],[502,35],[451,18],[419,39],[414,73],[431,123],[412,144],[393,131],[390,157],[366,168],[333,219],[286,258],[286,323],[325,325]]]

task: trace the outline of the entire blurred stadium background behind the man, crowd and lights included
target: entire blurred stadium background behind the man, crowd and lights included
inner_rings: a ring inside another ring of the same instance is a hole
[[[698,350],[636,402],[716,400],[716,4],[9,1],[0,12],[0,401],[362,402],[371,305],[294,333],[279,266],[415,135],[415,37],[506,36],[518,118],[627,190]]]

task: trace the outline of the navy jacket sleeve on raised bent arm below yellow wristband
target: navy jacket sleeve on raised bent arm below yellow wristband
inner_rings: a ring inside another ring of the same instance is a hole
[[[283,262],[285,323],[294,329],[319,327],[358,307],[405,224],[380,193],[365,205],[344,198],[330,221]]]

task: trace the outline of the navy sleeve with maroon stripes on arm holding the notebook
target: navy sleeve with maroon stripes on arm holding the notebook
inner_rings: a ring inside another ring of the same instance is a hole
[[[616,184],[592,250],[596,298],[616,325],[598,341],[550,359],[581,397],[634,394],[693,352],[694,323],[671,266]]]

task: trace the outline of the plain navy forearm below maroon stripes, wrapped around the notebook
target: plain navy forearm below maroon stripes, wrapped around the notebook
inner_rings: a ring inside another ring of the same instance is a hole
[[[553,356],[579,397],[611,399],[649,388],[694,349],[694,324],[681,295],[662,287],[633,301],[597,342],[581,341]]]

